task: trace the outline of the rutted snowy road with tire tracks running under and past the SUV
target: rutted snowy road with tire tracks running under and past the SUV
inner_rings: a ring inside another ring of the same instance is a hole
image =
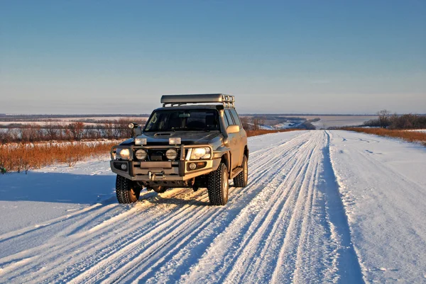
[[[312,131],[251,153],[249,186],[230,188],[224,207],[206,206],[205,189],[174,189],[83,212],[45,244],[1,259],[6,268],[19,263],[2,276],[9,283],[337,282],[340,239],[319,181],[324,147],[324,132]]]

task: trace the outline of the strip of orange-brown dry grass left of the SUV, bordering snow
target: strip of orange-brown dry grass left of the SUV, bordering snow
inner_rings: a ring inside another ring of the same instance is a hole
[[[6,171],[40,169],[55,163],[74,166],[77,161],[109,153],[117,142],[74,142],[0,145],[0,168]]]

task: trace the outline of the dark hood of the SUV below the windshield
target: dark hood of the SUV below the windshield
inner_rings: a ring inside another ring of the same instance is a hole
[[[176,132],[144,132],[138,138],[146,138],[148,146],[151,145],[168,145],[169,138],[180,137],[182,144],[209,144],[214,137],[221,135],[219,131],[176,131]],[[133,138],[124,141],[121,144],[133,144]]]

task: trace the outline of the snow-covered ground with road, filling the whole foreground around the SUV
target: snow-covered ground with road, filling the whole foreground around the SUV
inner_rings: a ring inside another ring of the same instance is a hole
[[[119,205],[108,158],[0,176],[0,283],[425,283],[426,148],[251,137],[250,183]]]

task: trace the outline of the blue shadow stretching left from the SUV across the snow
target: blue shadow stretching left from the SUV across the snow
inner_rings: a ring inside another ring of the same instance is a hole
[[[0,200],[48,203],[112,203],[115,176],[65,173],[0,175]]]

